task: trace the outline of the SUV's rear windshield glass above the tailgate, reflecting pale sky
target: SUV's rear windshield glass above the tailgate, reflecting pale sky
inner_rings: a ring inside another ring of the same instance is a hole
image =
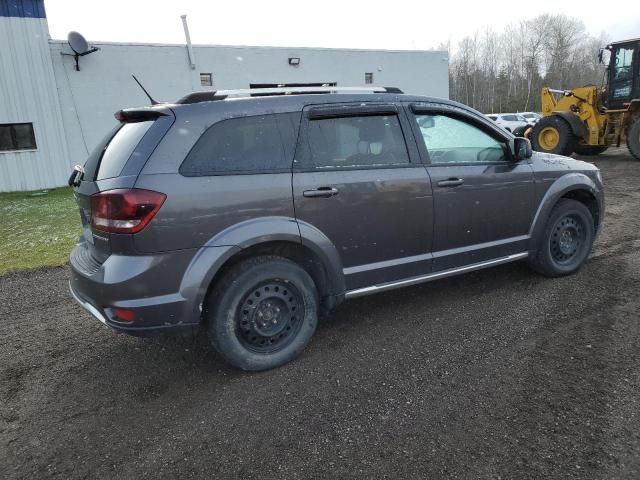
[[[153,121],[125,123],[102,151],[96,180],[117,177]]]

